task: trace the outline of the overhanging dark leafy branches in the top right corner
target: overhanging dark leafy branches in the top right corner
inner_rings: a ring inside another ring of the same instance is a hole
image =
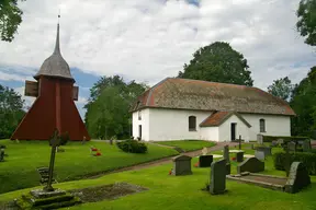
[[[301,0],[296,14],[297,31],[306,37],[306,44],[316,46],[316,0]]]

